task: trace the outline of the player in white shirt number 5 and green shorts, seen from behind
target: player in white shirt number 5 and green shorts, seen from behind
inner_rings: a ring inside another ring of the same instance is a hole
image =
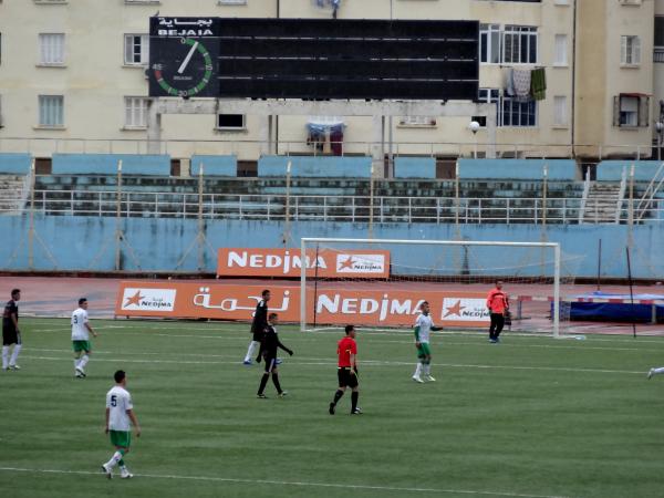
[[[113,377],[115,378],[115,386],[106,393],[106,434],[111,436],[111,444],[115,446],[115,453],[108,461],[102,465],[102,471],[111,479],[113,468],[118,465],[120,477],[127,479],[134,477],[124,463],[124,456],[129,453],[129,446],[132,445],[129,422],[134,424],[136,437],[141,437],[141,425],[138,425],[138,419],[134,415],[132,396],[125,388],[126,374],[118,370]]]

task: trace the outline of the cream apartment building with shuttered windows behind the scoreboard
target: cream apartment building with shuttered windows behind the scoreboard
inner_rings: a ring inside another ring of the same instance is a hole
[[[664,73],[651,53],[664,61],[653,28],[664,0],[0,0],[0,149],[146,151],[147,32],[157,13],[477,20],[478,98],[496,104],[500,155],[646,157],[656,138]],[[535,69],[546,72],[546,97],[513,96],[515,72]],[[488,134],[471,133],[474,118],[484,125],[475,116],[391,118],[384,139],[396,154],[481,155]],[[266,121],[164,115],[162,151],[255,160],[266,152]],[[276,116],[272,147],[313,152],[310,122],[343,122],[344,153],[369,149],[372,118],[347,116]]]

